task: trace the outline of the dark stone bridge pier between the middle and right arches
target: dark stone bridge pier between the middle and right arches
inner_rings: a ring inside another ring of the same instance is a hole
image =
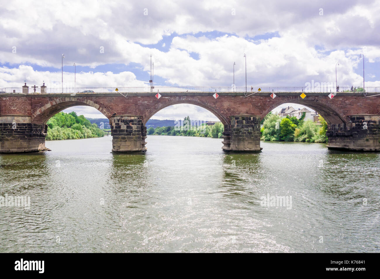
[[[225,125],[222,147],[225,151],[258,152],[260,147],[260,117],[252,115],[231,116]]]

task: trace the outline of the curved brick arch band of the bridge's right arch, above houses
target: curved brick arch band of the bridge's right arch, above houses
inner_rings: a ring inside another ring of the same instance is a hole
[[[307,96],[306,99],[300,99],[298,96],[287,96],[287,97],[277,96],[274,100],[275,102],[271,104],[271,106],[268,106],[266,110],[264,110],[264,112],[261,114],[260,116],[261,119],[263,119],[265,115],[267,115],[276,107],[285,103],[293,103],[293,104],[304,105],[304,106],[314,109],[326,120],[328,124],[348,123],[347,116],[344,115],[342,110],[340,110],[336,106],[329,103],[327,98],[325,101],[315,96]]]

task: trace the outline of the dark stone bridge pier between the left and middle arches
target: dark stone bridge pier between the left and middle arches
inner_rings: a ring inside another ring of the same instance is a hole
[[[117,115],[109,119],[112,152],[145,152],[146,126],[141,116]]]

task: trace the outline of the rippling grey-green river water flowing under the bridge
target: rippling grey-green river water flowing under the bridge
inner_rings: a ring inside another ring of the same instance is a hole
[[[145,154],[114,154],[111,140],[0,155],[0,195],[30,197],[0,207],[0,252],[380,252],[378,153],[148,136]]]

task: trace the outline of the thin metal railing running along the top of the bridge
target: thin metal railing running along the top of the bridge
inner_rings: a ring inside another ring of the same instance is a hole
[[[120,93],[150,93],[150,87],[117,87]],[[336,93],[336,87],[259,87],[255,86],[252,88],[252,92],[305,92],[305,93]],[[46,93],[82,93],[85,91],[90,91],[89,93],[116,93],[116,87],[81,87],[81,88],[46,88]],[[380,92],[380,87],[366,87],[366,92]],[[63,92],[62,92],[63,91]],[[22,93],[22,87],[6,87],[0,89],[0,93]],[[194,87],[194,86],[155,86],[152,92],[245,92],[245,86],[204,86],[204,87]],[[247,92],[251,92],[251,88],[247,87]],[[340,93],[360,93],[363,92],[363,87],[340,87]],[[34,92],[33,87],[28,88],[28,93],[41,93],[41,88],[36,88]]]

